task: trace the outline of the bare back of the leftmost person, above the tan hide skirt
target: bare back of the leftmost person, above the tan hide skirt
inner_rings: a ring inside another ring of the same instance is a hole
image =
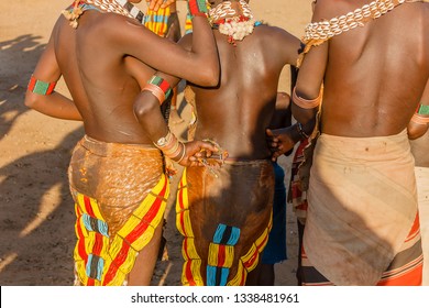
[[[103,23],[114,18],[125,19],[89,10],[73,29],[61,16],[54,32],[55,53],[88,135],[107,142],[150,143],[132,105],[155,70],[109,44]]]

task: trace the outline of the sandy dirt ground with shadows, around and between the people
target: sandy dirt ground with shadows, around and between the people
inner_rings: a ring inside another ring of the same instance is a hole
[[[81,123],[48,118],[23,105],[28,80],[62,9],[72,0],[0,2],[0,285],[66,286],[73,284],[74,206],[67,184],[70,151],[84,134]],[[144,1],[143,1],[144,2]],[[310,19],[310,0],[252,1],[255,18],[300,37]],[[178,2],[184,16],[185,2]],[[144,3],[141,4],[144,9]],[[184,19],[182,19],[184,20]],[[267,46],[270,47],[270,46]],[[279,90],[288,92],[285,74]],[[61,81],[57,91],[67,94]],[[182,101],[183,95],[179,95]],[[184,133],[189,108],[179,105]],[[290,158],[280,164],[288,174]],[[288,176],[286,182],[288,180]],[[177,183],[177,177],[172,184]],[[180,284],[182,238],[174,226],[174,194],[166,212],[167,255],[153,285]],[[289,260],[276,265],[276,285],[296,285],[297,231],[288,206]]]

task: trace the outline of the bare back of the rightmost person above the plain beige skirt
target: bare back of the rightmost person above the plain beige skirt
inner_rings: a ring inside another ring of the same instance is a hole
[[[337,15],[366,2],[342,1]],[[370,136],[406,129],[429,78],[428,6],[404,3],[329,41],[323,132]]]

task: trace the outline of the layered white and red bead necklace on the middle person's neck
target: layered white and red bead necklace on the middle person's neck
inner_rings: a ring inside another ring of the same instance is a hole
[[[211,26],[228,36],[230,44],[243,41],[252,34],[255,26],[262,24],[253,20],[252,11],[244,0],[239,2],[240,14],[232,8],[231,1],[224,1],[209,11]]]

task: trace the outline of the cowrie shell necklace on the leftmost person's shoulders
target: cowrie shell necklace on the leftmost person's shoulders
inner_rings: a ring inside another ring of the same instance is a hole
[[[67,10],[63,10],[63,14],[70,21],[70,25],[76,29],[78,19],[89,9],[96,9],[101,12],[117,13],[128,18],[136,19],[140,23],[144,23],[144,14],[134,4],[127,0],[76,0]]]

